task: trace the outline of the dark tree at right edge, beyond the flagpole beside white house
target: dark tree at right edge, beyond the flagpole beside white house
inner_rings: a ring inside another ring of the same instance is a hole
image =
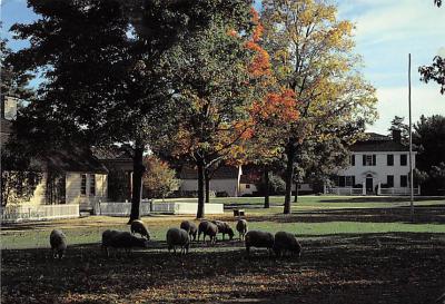
[[[438,177],[441,176],[441,164],[445,163],[443,153],[445,150],[445,117],[441,115],[421,116],[419,121],[414,124],[413,144],[418,147],[416,168],[426,173],[423,192],[437,194],[437,190],[443,187]]]

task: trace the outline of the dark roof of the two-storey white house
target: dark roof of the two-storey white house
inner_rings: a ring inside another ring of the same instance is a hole
[[[367,133],[367,139],[358,140],[349,149],[352,151],[408,151],[409,147],[393,140],[389,136]]]

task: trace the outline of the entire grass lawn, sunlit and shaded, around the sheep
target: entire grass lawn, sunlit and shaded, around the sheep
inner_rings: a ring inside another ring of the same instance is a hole
[[[409,222],[406,198],[300,197],[281,215],[281,197],[263,209],[261,198],[215,198],[243,207],[250,229],[288,231],[304,247],[297,258],[254,251],[238,239],[192,244],[190,254],[168,254],[165,234],[185,218],[150,216],[147,249],[127,257],[100,253],[105,229],[128,231],[127,218],[86,217],[3,226],[2,303],[434,303],[445,292],[445,202],[416,202]],[[69,248],[53,261],[49,233],[67,234]]]

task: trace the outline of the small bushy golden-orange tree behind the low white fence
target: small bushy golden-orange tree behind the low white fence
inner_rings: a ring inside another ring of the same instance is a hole
[[[148,168],[144,175],[144,187],[150,198],[165,198],[179,187],[179,179],[176,173],[170,169],[166,161],[155,156],[145,158],[145,166]]]

